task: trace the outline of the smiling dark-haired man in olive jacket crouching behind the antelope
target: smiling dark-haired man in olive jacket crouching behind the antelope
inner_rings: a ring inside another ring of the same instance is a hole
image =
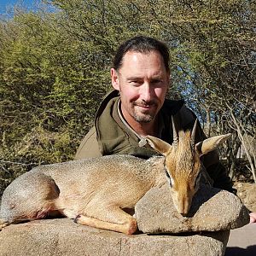
[[[148,158],[152,149],[140,148],[143,136],[160,137],[172,143],[172,116],[179,129],[191,129],[195,114],[183,101],[166,100],[169,88],[169,52],[154,38],[136,37],[119,46],[113,59],[111,78],[114,90],[103,100],[94,127],[84,137],[76,160],[107,154],[133,154]],[[205,138],[200,125],[196,142]],[[230,177],[215,151],[201,158],[213,186],[233,191]]]

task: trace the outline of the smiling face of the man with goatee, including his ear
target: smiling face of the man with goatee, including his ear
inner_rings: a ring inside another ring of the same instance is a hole
[[[119,90],[126,121],[154,121],[169,86],[170,73],[158,51],[128,51],[119,71],[111,69],[113,88]]]

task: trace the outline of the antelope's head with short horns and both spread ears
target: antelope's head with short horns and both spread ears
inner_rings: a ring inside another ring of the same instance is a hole
[[[170,184],[172,201],[177,212],[187,215],[195,192],[199,188],[201,170],[200,157],[219,144],[224,143],[230,134],[207,138],[195,143],[197,120],[192,131],[176,131],[172,119],[173,143],[170,145],[157,137],[147,136],[151,148],[164,155],[166,178]]]

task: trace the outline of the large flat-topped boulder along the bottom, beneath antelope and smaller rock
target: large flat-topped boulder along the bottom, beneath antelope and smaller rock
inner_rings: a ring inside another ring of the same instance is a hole
[[[230,231],[186,236],[126,236],[67,218],[11,224],[0,232],[0,256],[224,255]]]

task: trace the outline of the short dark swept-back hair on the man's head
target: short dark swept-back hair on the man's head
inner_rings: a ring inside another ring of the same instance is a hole
[[[170,71],[169,67],[169,49],[166,44],[160,42],[154,38],[148,38],[145,36],[137,36],[135,38],[130,38],[125,41],[123,44],[119,46],[117,49],[116,54],[113,57],[113,68],[115,70],[119,70],[122,66],[123,57],[126,52],[128,51],[136,51],[141,53],[148,53],[152,50],[157,50],[160,52],[160,55],[163,57],[164,64],[166,67],[166,71]]]

